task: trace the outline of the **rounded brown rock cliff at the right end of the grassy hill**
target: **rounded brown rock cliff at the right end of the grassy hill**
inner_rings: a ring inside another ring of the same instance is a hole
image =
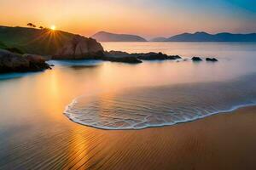
[[[95,39],[75,36],[57,50],[53,59],[88,59],[102,55],[103,48]]]

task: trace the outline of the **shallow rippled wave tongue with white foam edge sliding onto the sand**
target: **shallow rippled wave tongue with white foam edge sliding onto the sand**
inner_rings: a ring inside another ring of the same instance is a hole
[[[110,130],[174,125],[256,105],[255,80],[251,76],[80,96],[64,114],[73,122]]]

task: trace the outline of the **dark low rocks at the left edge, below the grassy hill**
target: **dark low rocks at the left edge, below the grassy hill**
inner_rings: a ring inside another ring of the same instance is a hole
[[[50,69],[44,57],[33,54],[15,54],[0,49],[0,73],[44,71]]]

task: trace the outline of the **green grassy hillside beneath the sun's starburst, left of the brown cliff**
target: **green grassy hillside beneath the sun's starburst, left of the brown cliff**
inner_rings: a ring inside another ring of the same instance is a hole
[[[75,35],[64,31],[39,30],[25,27],[0,26],[0,48],[18,49],[29,54],[55,54]]]

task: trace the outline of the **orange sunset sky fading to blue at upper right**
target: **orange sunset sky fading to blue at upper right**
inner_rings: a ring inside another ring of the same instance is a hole
[[[183,32],[256,32],[255,0],[0,0],[0,25],[171,37]]]

